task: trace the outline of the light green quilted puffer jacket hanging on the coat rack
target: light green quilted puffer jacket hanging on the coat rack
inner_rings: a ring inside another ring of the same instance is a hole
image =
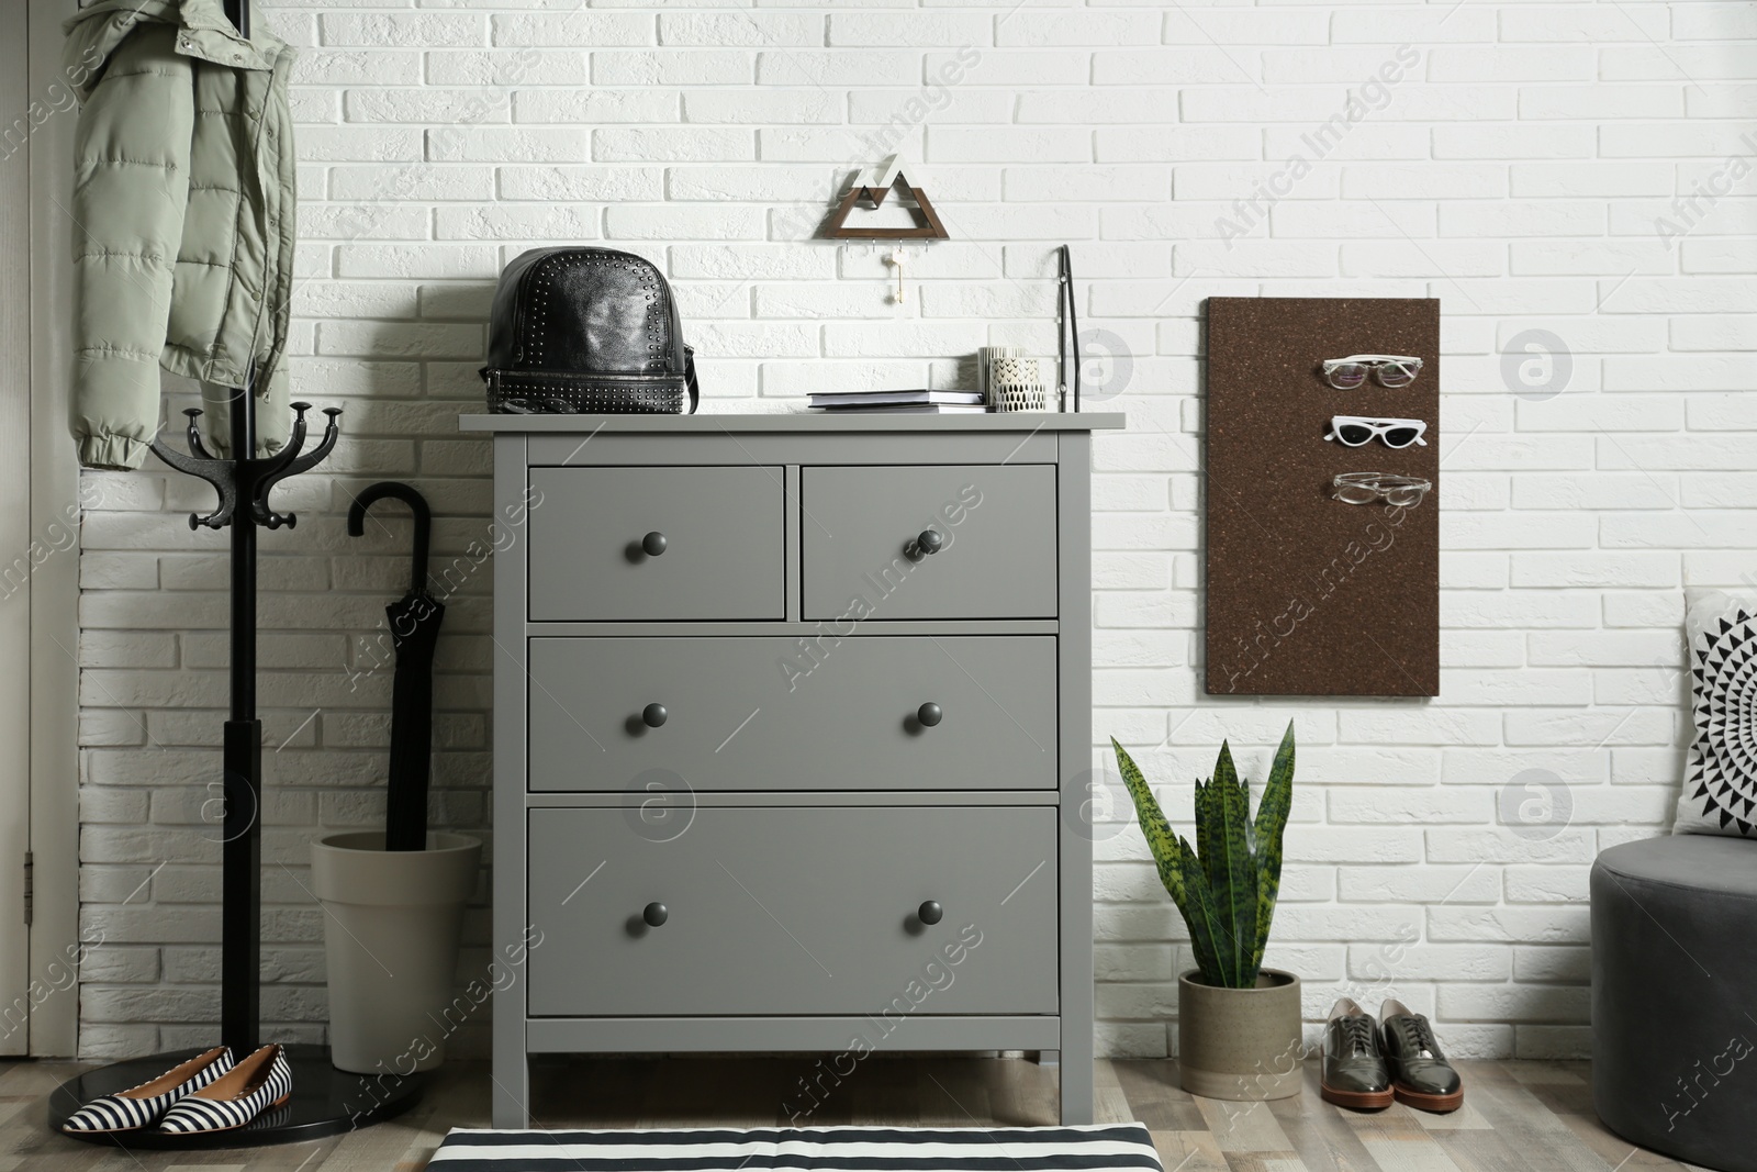
[[[74,146],[72,429],[86,467],[132,469],[158,432],[158,369],[197,378],[209,448],[225,390],[257,390],[258,455],[288,427],[292,49],[220,0],[98,0],[67,21]]]

